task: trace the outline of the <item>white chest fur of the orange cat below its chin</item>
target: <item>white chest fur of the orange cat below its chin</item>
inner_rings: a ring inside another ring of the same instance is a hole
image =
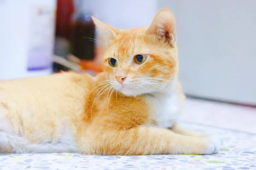
[[[168,128],[175,124],[180,112],[179,95],[177,92],[156,97],[148,96],[146,101],[150,107],[151,125]]]

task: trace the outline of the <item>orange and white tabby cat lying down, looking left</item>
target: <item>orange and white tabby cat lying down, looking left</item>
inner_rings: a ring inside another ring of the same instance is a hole
[[[182,130],[175,18],[119,30],[93,18],[105,72],[0,82],[0,152],[212,154],[220,141]]]

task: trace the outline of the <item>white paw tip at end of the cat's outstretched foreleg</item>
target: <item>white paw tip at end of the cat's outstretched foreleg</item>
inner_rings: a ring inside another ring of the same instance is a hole
[[[210,136],[207,139],[206,149],[201,155],[218,153],[221,149],[222,140],[216,136]]]

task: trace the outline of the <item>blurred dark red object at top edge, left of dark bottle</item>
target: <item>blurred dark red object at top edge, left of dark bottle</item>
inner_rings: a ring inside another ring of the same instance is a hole
[[[73,0],[58,0],[56,13],[56,35],[70,39],[71,18],[74,12]]]

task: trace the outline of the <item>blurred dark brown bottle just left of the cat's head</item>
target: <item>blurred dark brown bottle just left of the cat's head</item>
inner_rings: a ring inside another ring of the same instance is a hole
[[[81,60],[94,59],[95,25],[91,12],[82,12],[72,23],[71,51]]]

